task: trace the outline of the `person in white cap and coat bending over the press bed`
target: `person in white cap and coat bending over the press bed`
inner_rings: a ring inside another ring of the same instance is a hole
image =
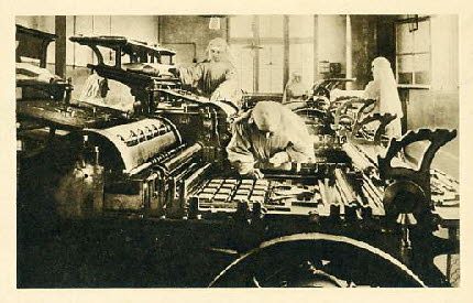
[[[315,159],[314,140],[304,120],[273,101],[257,102],[234,122],[227,152],[241,175],[256,178],[263,177],[260,167],[265,164],[287,167],[290,162],[309,163]]]

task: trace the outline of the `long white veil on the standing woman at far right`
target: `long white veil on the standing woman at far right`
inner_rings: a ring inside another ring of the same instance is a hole
[[[374,83],[380,89],[380,112],[388,112],[402,118],[403,109],[389,62],[385,57],[376,57],[373,59],[372,66]]]

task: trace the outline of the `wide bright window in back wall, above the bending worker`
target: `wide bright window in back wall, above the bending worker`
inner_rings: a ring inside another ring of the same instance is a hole
[[[314,80],[314,15],[289,15],[289,41],[285,42],[284,15],[230,17],[230,45],[243,90],[283,93],[284,71],[299,72]],[[288,43],[288,66],[284,64]]]

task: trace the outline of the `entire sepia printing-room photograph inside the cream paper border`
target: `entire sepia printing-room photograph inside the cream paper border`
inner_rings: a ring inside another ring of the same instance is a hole
[[[15,288],[459,288],[459,19],[14,15]]]

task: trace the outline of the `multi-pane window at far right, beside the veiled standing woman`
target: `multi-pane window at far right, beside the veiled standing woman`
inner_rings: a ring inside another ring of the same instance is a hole
[[[399,85],[429,86],[430,19],[414,18],[396,24],[396,73]]]

